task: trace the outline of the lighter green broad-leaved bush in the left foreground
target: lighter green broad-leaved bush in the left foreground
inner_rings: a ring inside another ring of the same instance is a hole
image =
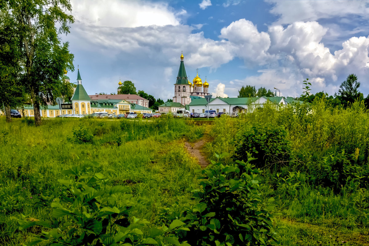
[[[48,245],[162,245],[163,241],[180,245],[173,232],[183,224],[173,221],[169,228],[152,227],[145,237],[141,227],[149,222],[129,215],[133,210],[129,187],[107,187],[106,177],[101,173],[86,175],[85,170],[98,166],[84,163],[64,170],[71,179],[58,180],[65,188],[61,198],[52,202],[52,221],[24,221],[17,219],[19,229],[39,226],[47,231],[36,236],[27,245],[47,243]],[[119,200],[118,201],[118,198]],[[13,219],[16,219],[13,217]],[[162,237],[165,235],[165,237]],[[155,240],[156,239],[156,240]],[[186,246],[188,244],[182,243]]]

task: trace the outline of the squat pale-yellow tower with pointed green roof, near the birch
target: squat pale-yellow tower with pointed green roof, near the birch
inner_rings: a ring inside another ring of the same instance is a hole
[[[77,87],[71,99],[73,104],[73,113],[75,114],[91,114],[90,97],[82,85],[81,75],[78,69]]]

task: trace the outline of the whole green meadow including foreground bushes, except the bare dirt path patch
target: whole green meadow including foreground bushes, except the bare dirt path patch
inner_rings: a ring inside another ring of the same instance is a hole
[[[368,118],[324,100],[211,125],[1,118],[0,244],[369,245]]]

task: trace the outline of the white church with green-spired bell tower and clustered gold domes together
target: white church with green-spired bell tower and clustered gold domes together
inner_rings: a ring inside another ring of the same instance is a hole
[[[206,79],[205,83],[202,83],[199,73],[192,80],[192,83],[190,82],[186,74],[186,69],[184,68],[182,53],[177,80],[174,84],[173,103],[180,103],[182,105],[190,104],[192,98],[205,98],[205,96],[210,95],[208,89],[209,84],[206,82]]]

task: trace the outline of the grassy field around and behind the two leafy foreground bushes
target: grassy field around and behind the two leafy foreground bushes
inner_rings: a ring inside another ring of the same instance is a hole
[[[184,148],[199,139],[206,139],[202,152],[210,160],[227,152],[225,165],[246,161],[246,151],[259,155],[250,162],[262,171],[260,204],[275,199],[273,227],[281,245],[369,245],[368,118],[362,105],[343,110],[324,102],[307,115],[266,105],[211,125],[175,118],[52,119],[34,127],[0,118],[0,245],[21,245],[41,233],[40,226],[21,230],[18,220],[51,220],[51,204],[66,194],[58,182],[67,177],[63,170],[87,162],[93,164],[85,175],[104,177],[97,187],[130,187],[130,219],[146,219],[141,230],[151,233],[161,226],[163,208],[199,203],[190,191],[199,185],[199,166]]]

